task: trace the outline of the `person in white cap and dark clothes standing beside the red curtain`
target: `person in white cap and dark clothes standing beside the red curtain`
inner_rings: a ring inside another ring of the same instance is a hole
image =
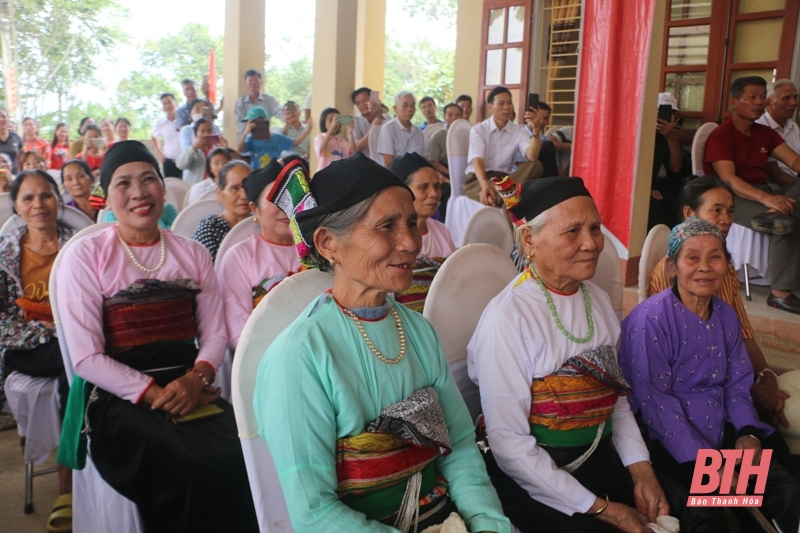
[[[678,101],[671,93],[660,93],[658,105],[672,107],[672,116],[669,122],[659,118],[656,125],[648,231],[658,224],[672,228],[683,219],[678,212],[678,198],[686,178],[692,174],[691,156],[681,148],[678,138],[678,120],[681,116]]]

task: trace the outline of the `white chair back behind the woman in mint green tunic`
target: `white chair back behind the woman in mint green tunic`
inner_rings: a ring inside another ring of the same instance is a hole
[[[247,476],[262,533],[293,533],[289,510],[267,443],[258,435],[253,394],[261,358],[272,341],[314,298],[333,285],[333,276],[306,270],[283,280],[256,306],[244,325],[233,358],[232,404]]]

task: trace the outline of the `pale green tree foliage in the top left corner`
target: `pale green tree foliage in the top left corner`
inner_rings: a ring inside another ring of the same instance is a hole
[[[14,26],[20,109],[39,115],[44,95],[74,97],[75,81],[95,81],[95,60],[127,39],[117,0],[16,0]],[[5,93],[2,93],[5,98]]]

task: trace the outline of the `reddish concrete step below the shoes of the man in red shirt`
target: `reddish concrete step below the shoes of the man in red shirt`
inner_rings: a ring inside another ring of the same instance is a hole
[[[767,355],[769,349],[774,357],[781,360],[783,368],[800,368],[800,315],[780,311],[767,305],[769,287],[751,286],[752,301],[745,298],[744,285],[741,286],[742,300],[756,332],[756,341]],[[639,303],[637,287],[625,287],[623,293],[623,316]],[[767,356],[769,360],[769,356]],[[797,361],[795,362],[794,359]]]

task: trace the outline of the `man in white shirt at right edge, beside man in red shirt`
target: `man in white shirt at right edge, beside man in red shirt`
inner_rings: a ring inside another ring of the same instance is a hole
[[[761,115],[761,118],[756,120],[756,123],[769,126],[778,132],[778,135],[783,137],[789,148],[800,153],[800,128],[792,120],[796,110],[797,87],[794,86],[791,80],[778,80],[769,86],[767,90],[767,111]],[[779,172],[775,165],[785,175]],[[770,175],[770,179],[781,186],[789,185],[797,178],[797,174],[792,169],[771,157],[767,172]]]

